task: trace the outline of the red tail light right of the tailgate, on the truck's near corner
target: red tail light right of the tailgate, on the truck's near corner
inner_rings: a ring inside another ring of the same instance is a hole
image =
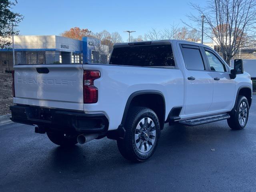
[[[98,102],[98,89],[94,86],[94,80],[100,78],[99,71],[84,70],[83,92],[84,103]]]

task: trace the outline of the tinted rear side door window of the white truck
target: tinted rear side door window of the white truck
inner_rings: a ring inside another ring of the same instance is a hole
[[[182,45],[182,55],[188,70],[205,70],[202,54],[198,46]]]

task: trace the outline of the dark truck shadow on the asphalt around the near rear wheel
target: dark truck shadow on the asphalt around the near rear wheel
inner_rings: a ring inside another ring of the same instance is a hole
[[[136,164],[125,160],[118,152],[116,141],[104,138],[72,148],[53,148],[48,156],[49,166],[60,172],[97,174],[102,170],[141,168],[152,162],[170,164],[177,159],[183,161],[188,156],[192,159],[199,156],[204,158],[214,152],[223,152],[224,148],[233,148],[237,142],[244,142],[246,130],[232,131],[225,123],[196,127],[166,125],[161,132],[156,153],[144,163]]]

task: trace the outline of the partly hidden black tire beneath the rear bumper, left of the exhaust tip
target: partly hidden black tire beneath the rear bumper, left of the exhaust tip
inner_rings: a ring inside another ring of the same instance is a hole
[[[77,144],[76,136],[64,136],[63,133],[58,132],[46,132],[48,138],[56,145],[69,147]]]

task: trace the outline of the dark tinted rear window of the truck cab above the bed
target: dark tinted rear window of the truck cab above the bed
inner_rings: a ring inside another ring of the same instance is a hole
[[[171,44],[116,47],[109,64],[175,68]]]

